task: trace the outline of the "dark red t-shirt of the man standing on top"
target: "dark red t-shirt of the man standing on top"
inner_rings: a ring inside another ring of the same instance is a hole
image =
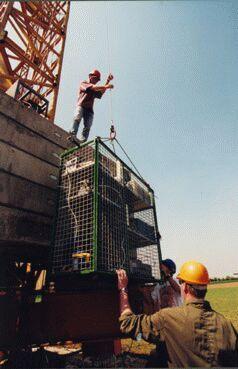
[[[90,82],[81,82],[78,94],[78,106],[82,106],[83,108],[91,111],[93,111],[94,99],[101,99],[103,95],[100,91],[93,91],[93,86],[94,85]]]

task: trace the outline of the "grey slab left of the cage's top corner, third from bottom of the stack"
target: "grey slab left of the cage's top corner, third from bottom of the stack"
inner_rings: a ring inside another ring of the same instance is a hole
[[[0,170],[56,188],[58,168],[0,142]]]

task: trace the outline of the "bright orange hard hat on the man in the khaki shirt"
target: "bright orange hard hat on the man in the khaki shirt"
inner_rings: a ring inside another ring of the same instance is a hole
[[[184,263],[177,278],[190,284],[206,285],[209,283],[207,268],[195,260]]]

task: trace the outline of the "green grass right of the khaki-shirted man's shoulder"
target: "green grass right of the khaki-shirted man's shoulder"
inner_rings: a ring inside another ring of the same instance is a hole
[[[214,310],[230,319],[238,330],[238,287],[210,289],[207,300]]]

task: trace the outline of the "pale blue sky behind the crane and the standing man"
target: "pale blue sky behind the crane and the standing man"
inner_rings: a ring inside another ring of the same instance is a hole
[[[56,123],[70,129],[79,82],[110,68],[90,137],[113,118],[157,195],[162,256],[212,276],[238,272],[237,65],[236,0],[71,2]]]

